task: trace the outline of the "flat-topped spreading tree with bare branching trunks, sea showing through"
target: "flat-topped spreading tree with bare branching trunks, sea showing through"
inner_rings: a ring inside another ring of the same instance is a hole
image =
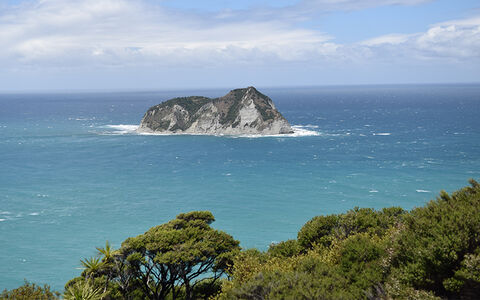
[[[212,229],[214,220],[210,212],[180,214],[123,242],[120,253],[152,299],[165,297],[179,283],[191,299],[197,277],[211,272],[218,279],[223,274],[239,242]],[[149,283],[152,277],[154,284]]]

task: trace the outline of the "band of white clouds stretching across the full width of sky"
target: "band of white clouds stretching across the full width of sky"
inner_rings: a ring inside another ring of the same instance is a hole
[[[304,0],[291,11],[415,5],[427,0]],[[161,4],[161,2],[160,2]],[[480,58],[480,17],[425,32],[335,43],[279,14],[201,14],[143,0],[37,0],[0,13],[0,64],[7,69],[216,67]],[[239,17],[241,16],[241,17]]]

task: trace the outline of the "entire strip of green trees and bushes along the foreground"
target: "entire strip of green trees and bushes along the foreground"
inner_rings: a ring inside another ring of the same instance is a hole
[[[317,216],[296,239],[241,250],[210,212],[107,242],[81,260],[64,299],[478,299],[480,184],[423,207]],[[23,298],[22,298],[23,297]],[[57,299],[25,283],[1,299]]]

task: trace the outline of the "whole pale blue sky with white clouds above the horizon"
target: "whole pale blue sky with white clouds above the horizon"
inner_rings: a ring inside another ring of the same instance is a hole
[[[479,0],[0,0],[0,91],[479,78]]]

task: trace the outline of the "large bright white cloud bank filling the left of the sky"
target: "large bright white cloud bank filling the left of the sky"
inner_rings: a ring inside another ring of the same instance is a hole
[[[0,28],[4,62],[50,66],[288,61],[329,39],[275,20],[212,21],[126,0],[42,0],[1,15]]]

